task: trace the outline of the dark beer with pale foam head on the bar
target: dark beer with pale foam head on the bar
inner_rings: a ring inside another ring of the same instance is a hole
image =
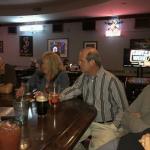
[[[48,100],[45,96],[40,95],[36,97],[37,114],[46,115],[48,111]]]

